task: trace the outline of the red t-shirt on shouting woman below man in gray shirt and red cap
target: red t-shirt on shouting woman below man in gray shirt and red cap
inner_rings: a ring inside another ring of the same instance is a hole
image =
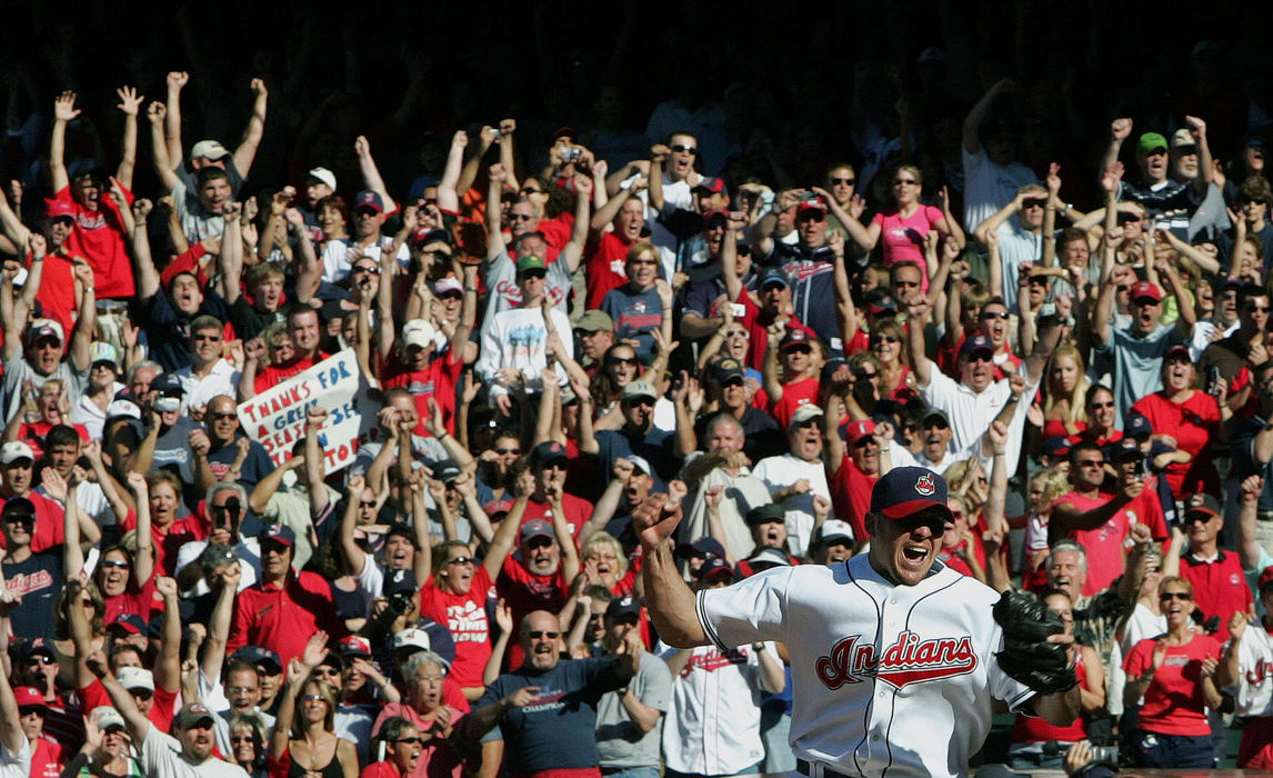
[[[1184,402],[1172,402],[1164,392],[1141,397],[1132,410],[1150,420],[1160,434],[1176,439],[1178,451],[1193,455],[1189,462],[1172,462],[1164,474],[1176,498],[1207,492],[1220,494],[1220,474],[1211,453],[1211,442],[1220,433],[1220,406],[1207,392],[1194,392]]]

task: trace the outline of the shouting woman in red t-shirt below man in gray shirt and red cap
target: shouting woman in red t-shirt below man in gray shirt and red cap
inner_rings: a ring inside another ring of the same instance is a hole
[[[1221,414],[1232,411],[1223,396],[1217,402],[1216,396],[1197,390],[1198,381],[1189,349],[1175,346],[1162,358],[1162,390],[1141,397],[1132,406],[1155,430],[1162,430],[1155,438],[1193,457],[1188,462],[1171,462],[1164,472],[1176,498],[1198,492],[1220,494],[1212,442],[1227,438],[1220,423]]]

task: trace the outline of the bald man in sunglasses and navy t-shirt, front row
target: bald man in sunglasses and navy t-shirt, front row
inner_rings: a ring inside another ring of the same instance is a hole
[[[527,614],[518,632],[522,666],[486,688],[465,727],[465,736],[477,741],[498,726],[512,774],[597,770],[597,700],[636,675],[644,649],[640,633],[631,630],[611,656],[563,660],[561,638],[554,614]]]

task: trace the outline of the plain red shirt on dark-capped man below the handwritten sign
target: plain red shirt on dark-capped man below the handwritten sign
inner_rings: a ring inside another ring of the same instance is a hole
[[[300,656],[309,637],[325,629],[332,637],[346,633],[345,623],[336,618],[327,579],[303,570],[288,576],[284,586],[258,581],[239,592],[234,609],[234,628],[225,652],[234,653],[243,646],[260,646],[288,661]]]

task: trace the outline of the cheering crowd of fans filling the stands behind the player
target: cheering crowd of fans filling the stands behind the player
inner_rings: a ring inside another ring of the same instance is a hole
[[[242,127],[200,90],[196,143],[199,69],[118,88],[117,132],[10,79],[0,773],[794,770],[783,646],[662,644],[633,512],[680,500],[728,586],[861,553],[904,465],[951,486],[941,562],[1077,639],[1082,719],[1018,717],[1008,764],[1206,768],[1242,727],[1273,768],[1273,118],[1110,117],[1058,163],[945,67],[859,67],[826,164],[742,136],[738,85],[644,131],[614,87],[589,126],[457,108],[390,169],[271,78]]]

